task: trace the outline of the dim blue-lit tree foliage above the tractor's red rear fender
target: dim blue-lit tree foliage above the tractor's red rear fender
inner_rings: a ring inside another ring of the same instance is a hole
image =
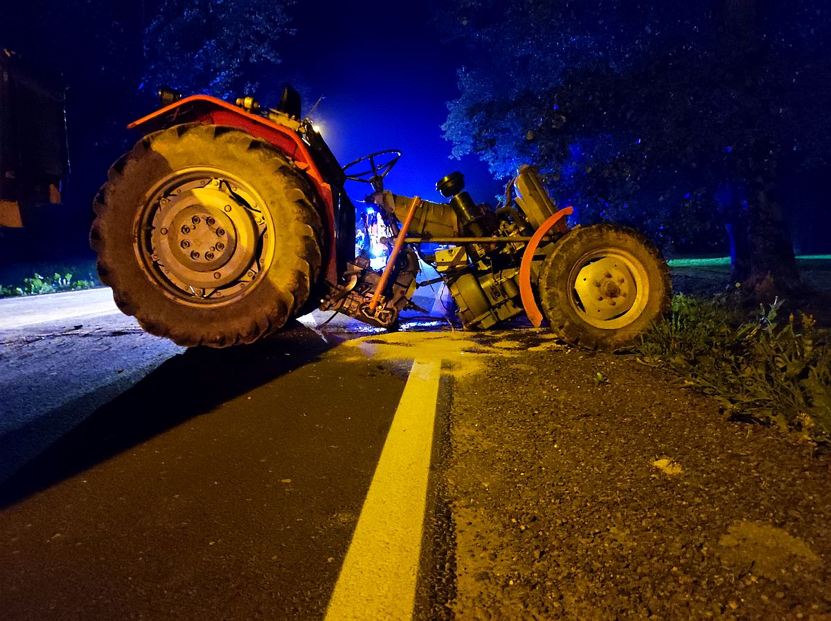
[[[278,43],[294,31],[295,0],[160,0],[145,29],[142,86],[228,97],[255,85],[243,76],[280,62]]]

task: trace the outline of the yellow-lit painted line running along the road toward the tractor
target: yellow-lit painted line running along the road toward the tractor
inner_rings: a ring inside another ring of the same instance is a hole
[[[412,618],[440,374],[440,360],[413,362],[326,621]]]

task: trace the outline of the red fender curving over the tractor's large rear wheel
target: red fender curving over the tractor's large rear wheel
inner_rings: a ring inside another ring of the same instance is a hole
[[[148,131],[161,130],[180,123],[204,123],[205,125],[225,125],[242,130],[256,138],[263,139],[292,159],[298,169],[307,175],[322,200],[318,213],[326,230],[323,250],[323,262],[326,278],[337,282],[337,265],[335,257],[335,209],[332,200],[332,186],[323,178],[315,164],[312,154],[300,135],[292,128],[280,125],[263,116],[253,115],[229,104],[227,101],[209,95],[190,95],[149,115],[134,120],[127,128]]]

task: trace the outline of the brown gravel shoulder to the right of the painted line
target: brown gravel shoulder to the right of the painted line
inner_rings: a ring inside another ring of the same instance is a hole
[[[697,275],[676,291],[724,290]],[[827,448],[729,422],[632,357],[536,330],[475,341],[521,355],[454,379],[455,619],[831,621]]]

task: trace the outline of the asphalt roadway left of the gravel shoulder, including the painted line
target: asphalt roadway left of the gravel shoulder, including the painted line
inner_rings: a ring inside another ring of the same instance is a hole
[[[184,350],[108,295],[0,301],[2,618],[366,619],[371,584],[411,610],[439,367],[400,408],[412,359],[339,346],[368,326]]]

